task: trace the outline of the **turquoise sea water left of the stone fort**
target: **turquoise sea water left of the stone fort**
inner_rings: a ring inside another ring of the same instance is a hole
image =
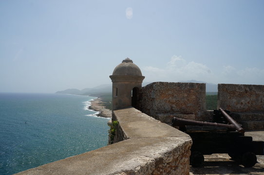
[[[92,99],[0,93],[0,175],[106,146],[108,119],[87,109]]]

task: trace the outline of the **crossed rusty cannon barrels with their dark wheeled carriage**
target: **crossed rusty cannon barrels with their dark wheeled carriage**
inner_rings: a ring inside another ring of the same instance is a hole
[[[202,166],[203,155],[226,153],[231,160],[252,167],[256,155],[264,155],[264,141],[253,141],[230,115],[230,111],[214,110],[212,122],[200,122],[173,117],[172,126],[186,132],[192,139],[190,165]]]

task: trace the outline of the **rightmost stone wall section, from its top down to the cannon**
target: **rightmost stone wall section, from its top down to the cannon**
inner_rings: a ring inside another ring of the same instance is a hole
[[[217,107],[233,112],[246,130],[264,129],[264,86],[218,84]]]

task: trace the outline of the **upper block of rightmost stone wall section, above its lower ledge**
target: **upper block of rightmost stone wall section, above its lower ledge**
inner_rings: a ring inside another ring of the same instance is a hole
[[[264,86],[218,84],[217,107],[234,112],[264,111]]]

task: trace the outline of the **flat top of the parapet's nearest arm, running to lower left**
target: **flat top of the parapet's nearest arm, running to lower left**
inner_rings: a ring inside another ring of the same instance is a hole
[[[120,141],[81,155],[29,169],[17,175],[114,175],[137,172],[147,175],[160,159],[170,161],[188,146],[189,138],[140,138]],[[177,149],[175,149],[177,148]],[[179,158],[181,158],[179,156]],[[147,165],[148,168],[145,166]]]

